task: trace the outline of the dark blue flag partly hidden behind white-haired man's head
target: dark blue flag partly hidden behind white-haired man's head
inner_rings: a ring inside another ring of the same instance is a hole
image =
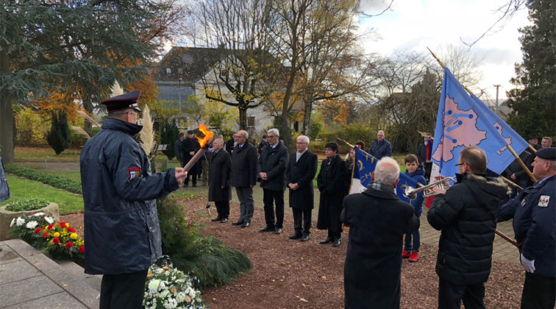
[[[357,147],[354,149],[355,163],[353,165],[350,194],[361,193],[367,189],[367,186],[371,182],[375,167],[377,166],[377,162],[379,161],[377,158]],[[416,185],[417,182],[411,177],[400,173],[400,181],[398,182],[398,187],[396,187],[395,192],[402,201],[409,203],[409,198],[404,196],[405,188],[408,186],[416,187]]]

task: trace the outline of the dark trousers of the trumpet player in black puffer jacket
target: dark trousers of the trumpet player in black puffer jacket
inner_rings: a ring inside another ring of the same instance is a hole
[[[439,309],[459,309],[464,301],[466,309],[484,308],[484,282],[473,285],[457,285],[439,280]]]

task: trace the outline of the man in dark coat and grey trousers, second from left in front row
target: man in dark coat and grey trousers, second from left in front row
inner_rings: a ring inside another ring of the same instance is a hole
[[[236,133],[236,147],[231,154],[231,185],[236,187],[240,203],[240,217],[234,226],[246,228],[251,225],[255,203],[253,187],[256,185],[256,148],[247,142],[249,133],[240,130]]]

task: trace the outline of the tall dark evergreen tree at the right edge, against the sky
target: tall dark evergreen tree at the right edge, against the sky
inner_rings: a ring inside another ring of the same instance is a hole
[[[554,135],[556,124],[556,4],[528,2],[531,26],[520,31],[523,63],[516,64],[515,89],[507,92],[513,109],[508,123],[522,136]]]

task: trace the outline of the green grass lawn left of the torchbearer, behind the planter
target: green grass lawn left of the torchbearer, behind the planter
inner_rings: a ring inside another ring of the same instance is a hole
[[[56,189],[50,185],[44,185],[38,181],[30,181],[27,178],[11,174],[8,174],[6,178],[12,198],[0,203],[0,206],[4,206],[11,201],[35,198],[58,203],[60,215],[83,210],[83,197],[79,194],[73,194],[66,190]]]

